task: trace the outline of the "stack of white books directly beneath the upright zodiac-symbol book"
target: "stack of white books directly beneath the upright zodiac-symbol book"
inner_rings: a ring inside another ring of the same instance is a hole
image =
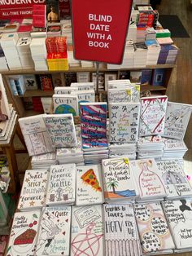
[[[109,157],[128,157],[129,160],[136,159],[136,143],[110,143]]]

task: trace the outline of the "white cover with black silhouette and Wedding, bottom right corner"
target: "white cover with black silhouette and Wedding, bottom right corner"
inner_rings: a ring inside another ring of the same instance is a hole
[[[177,249],[192,247],[192,206],[191,200],[162,202],[164,214]]]

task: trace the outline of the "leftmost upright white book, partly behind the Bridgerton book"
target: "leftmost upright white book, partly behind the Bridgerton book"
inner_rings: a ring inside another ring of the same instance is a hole
[[[43,121],[44,115],[23,117],[19,119],[29,156],[52,152],[50,137]]]

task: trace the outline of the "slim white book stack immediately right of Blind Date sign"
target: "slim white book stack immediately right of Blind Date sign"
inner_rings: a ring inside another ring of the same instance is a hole
[[[132,68],[134,65],[134,45],[133,40],[128,40],[124,48],[124,59],[120,68]]]

